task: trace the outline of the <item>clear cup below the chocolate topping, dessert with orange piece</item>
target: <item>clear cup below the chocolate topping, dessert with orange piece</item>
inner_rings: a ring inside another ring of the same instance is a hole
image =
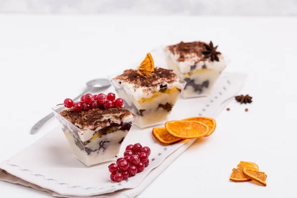
[[[135,92],[118,83],[112,77],[110,79],[119,98],[124,100],[125,108],[137,115],[135,125],[139,128],[165,123],[186,85],[185,81],[179,79],[175,85],[162,87],[158,91]]]

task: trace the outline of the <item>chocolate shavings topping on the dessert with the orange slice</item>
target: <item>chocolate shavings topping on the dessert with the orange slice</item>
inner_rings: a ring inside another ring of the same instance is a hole
[[[178,77],[173,70],[157,67],[148,77],[141,76],[137,70],[128,69],[125,70],[123,74],[115,77],[114,80],[118,83],[131,83],[134,84],[135,87],[154,88],[164,83],[173,83],[178,80]],[[163,86],[165,86],[165,84]]]

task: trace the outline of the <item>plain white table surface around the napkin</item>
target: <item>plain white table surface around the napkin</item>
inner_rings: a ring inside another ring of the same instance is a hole
[[[212,40],[248,74],[215,133],[198,140],[138,197],[297,197],[297,18],[0,15],[0,161],[29,146],[29,130],[90,79],[121,71],[158,45]],[[245,108],[249,111],[245,112]],[[190,109],[189,109],[190,110]],[[221,139],[220,145],[212,139]],[[240,160],[268,174],[267,187],[229,182]],[[241,195],[241,196],[239,196]],[[51,195],[0,182],[1,198]]]

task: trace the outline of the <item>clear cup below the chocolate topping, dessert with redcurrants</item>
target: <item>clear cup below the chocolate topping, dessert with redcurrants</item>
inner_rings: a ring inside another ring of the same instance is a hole
[[[109,122],[96,130],[80,129],[59,114],[66,107],[53,107],[73,155],[87,166],[115,160],[121,144],[127,136],[134,120],[125,118],[118,122]]]

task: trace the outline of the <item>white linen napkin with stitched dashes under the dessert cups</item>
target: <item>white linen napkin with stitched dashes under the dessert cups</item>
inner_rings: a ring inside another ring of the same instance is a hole
[[[242,73],[223,73],[208,97],[178,99],[169,120],[193,116],[216,117],[228,99],[233,98],[246,80]],[[215,135],[215,132],[214,134]],[[86,167],[72,154],[60,127],[33,145],[0,163],[0,180],[46,191],[55,197],[133,198],[141,193],[172,161],[195,140],[174,145],[160,144],[151,128],[133,126],[122,143],[141,143],[151,148],[150,164],[136,176],[121,183],[111,182],[108,164]]]

